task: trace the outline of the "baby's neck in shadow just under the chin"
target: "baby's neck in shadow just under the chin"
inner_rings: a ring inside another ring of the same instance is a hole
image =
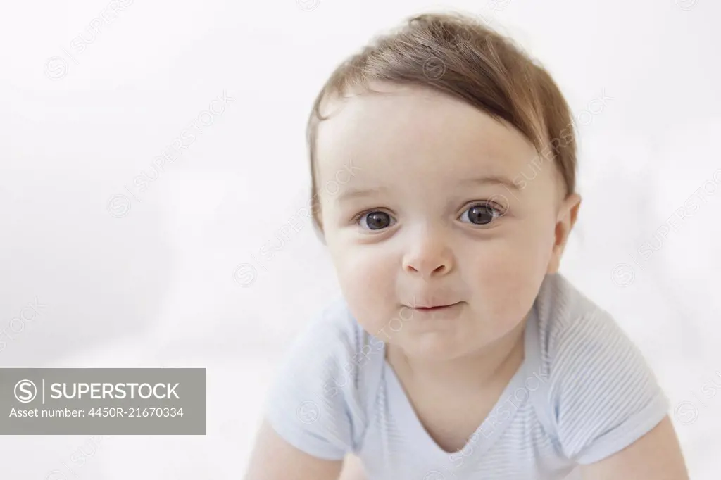
[[[387,357],[394,370],[417,385],[450,388],[453,391],[479,391],[497,382],[506,383],[523,362],[523,332],[528,316],[511,332],[483,350],[448,360],[406,355],[388,345]]]

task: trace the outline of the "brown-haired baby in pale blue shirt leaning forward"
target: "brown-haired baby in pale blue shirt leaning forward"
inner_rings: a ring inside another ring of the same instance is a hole
[[[687,479],[644,357],[559,274],[580,196],[544,68],[419,15],[333,72],[308,133],[342,297],[280,368],[248,480]]]

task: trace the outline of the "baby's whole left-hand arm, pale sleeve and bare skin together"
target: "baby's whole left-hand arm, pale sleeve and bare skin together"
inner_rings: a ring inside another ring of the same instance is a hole
[[[340,312],[342,313],[342,312]],[[298,334],[280,361],[265,399],[246,480],[343,480],[344,459],[363,431],[365,414],[348,365],[355,355],[352,324],[329,310]]]

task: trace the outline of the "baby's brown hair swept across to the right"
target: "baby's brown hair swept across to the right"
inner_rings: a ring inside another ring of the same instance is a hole
[[[311,167],[313,223],[322,233],[315,165],[322,102],[369,82],[425,86],[468,102],[517,128],[557,166],[566,195],[575,191],[576,141],[570,109],[548,72],[513,40],[459,12],[410,17],[343,61],[315,99],[306,135]],[[547,141],[550,139],[550,145]],[[541,151],[543,153],[541,154]]]

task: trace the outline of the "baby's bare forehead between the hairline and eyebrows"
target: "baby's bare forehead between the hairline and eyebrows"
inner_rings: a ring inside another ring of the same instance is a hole
[[[517,177],[539,162],[531,142],[460,99],[420,87],[388,87],[328,104],[319,124],[317,177],[357,166],[354,183],[454,182],[469,175]]]

